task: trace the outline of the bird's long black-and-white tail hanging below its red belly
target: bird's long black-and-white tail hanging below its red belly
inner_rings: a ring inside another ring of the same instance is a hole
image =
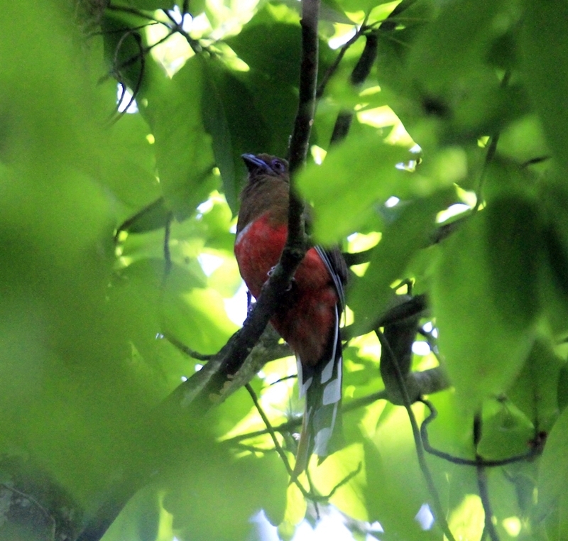
[[[310,368],[298,359],[300,398],[305,395],[305,412],[298,442],[294,474],[307,468],[312,454],[318,464],[344,445],[342,426],[342,342],[339,337],[339,314],[329,359]]]

